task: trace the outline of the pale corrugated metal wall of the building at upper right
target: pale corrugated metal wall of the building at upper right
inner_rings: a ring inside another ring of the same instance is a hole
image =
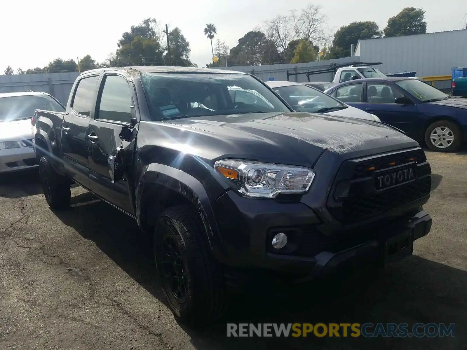
[[[467,30],[361,40],[357,53],[362,62],[382,62],[376,68],[384,73],[450,75],[453,67],[467,67]]]

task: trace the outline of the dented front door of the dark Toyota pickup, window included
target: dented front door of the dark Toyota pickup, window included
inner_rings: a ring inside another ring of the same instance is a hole
[[[130,83],[131,84],[131,83]],[[103,87],[102,87],[103,86]],[[122,179],[112,182],[109,173],[108,157],[115,155],[117,147],[123,147],[122,154],[130,162],[133,157],[134,137],[121,140],[122,129],[130,126],[130,106],[134,89],[119,75],[103,77],[101,91],[96,103],[96,113],[89,123],[87,142],[89,148],[89,184],[98,196],[116,205],[121,210],[134,215],[134,206],[126,173]]]

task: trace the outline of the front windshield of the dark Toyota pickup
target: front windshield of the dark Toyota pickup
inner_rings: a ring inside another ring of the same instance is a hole
[[[144,73],[141,81],[151,120],[290,112],[272,91],[246,74]]]

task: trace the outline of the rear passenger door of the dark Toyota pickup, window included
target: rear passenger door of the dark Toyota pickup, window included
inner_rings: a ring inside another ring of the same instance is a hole
[[[89,188],[89,163],[86,131],[94,101],[99,75],[79,79],[71,98],[71,108],[62,121],[62,151],[64,167],[79,184]]]

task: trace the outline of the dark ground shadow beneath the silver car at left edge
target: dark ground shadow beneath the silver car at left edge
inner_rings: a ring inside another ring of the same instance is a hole
[[[0,174],[0,197],[22,198],[41,193],[37,168]]]

